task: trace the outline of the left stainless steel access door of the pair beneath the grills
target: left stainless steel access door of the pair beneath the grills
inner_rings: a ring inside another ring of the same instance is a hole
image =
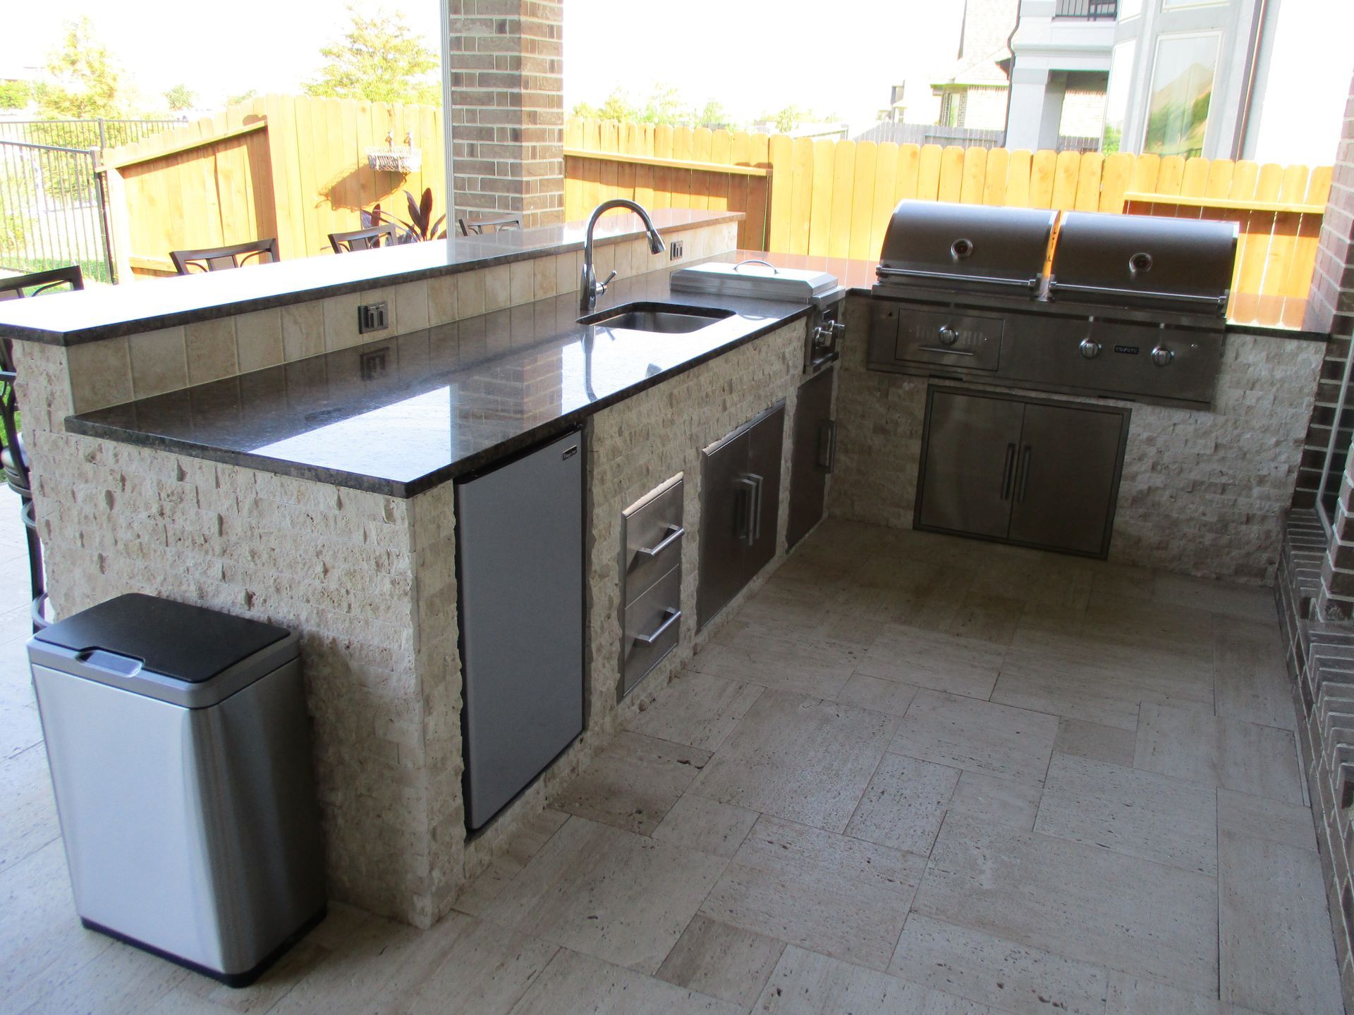
[[[1022,402],[932,390],[921,528],[1006,539]]]

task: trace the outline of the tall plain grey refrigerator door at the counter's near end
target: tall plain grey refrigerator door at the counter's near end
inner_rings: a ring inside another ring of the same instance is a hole
[[[473,830],[582,732],[582,482],[571,433],[456,486]]]

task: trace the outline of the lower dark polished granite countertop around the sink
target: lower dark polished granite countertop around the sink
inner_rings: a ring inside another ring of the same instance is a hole
[[[613,283],[609,309],[669,300],[669,273]],[[688,334],[578,325],[577,295],[69,417],[66,429],[393,497],[473,472],[808,313],[697,296],[733,314]]]

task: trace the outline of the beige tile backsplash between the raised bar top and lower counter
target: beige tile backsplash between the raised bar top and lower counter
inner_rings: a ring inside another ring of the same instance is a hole
[[[722,223],[673,233],[665,240],[681,242],[682,257],[677,261],[681,264],[733,250],[735,237],[737,223]],[[91,411],[359,345],[367,340],[357,334],[360,303],[385,300],[390,323],[385,334],[402,334],[574,292],[581,264],[582,253],[570,250],[76,345],[69,351],[74,409]],[[596,249],[598,280],[612,271],[617,279],[626,279],[672,264],[668,250],[649,253],[643,237]]]

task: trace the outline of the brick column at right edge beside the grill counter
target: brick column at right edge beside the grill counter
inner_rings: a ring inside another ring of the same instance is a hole
[[[1354,336],[1354,83],[1350,84],[1350,97],[1345,106],[1345,129],[1335,152],[1331,198],[1322,219],[1316,272],[1303,326],[1313,332],[1328,332],[1331,337],[1326,348],[1317,405],[1308,428],[1308,448],[1293,497],[1294,506],[1313,503],[1316,484],[1320,482],[1319,459],[1324,455],[1331,426],[1338,424],[1335,397],[1345,383]],[[1316,616],[1322,620],[1350,620],[1354,616],[1354,456],[1347,456],[1345,461],[1332,528],[1334,537],[1322,564]]]

